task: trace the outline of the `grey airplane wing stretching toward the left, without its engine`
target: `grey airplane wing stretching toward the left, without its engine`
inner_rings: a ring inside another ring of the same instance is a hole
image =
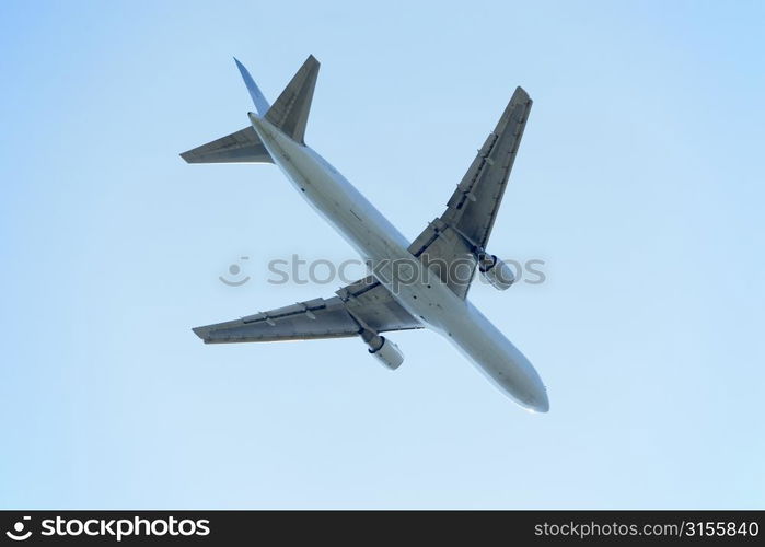
[[[422,328],[372,276],[336,294],[197,327],[194,333],[205,344],[232,344],[344,338],[357,336],[364,328],[375,333]]]

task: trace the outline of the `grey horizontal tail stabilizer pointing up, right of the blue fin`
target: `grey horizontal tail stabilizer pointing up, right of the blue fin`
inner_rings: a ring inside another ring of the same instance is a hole
[[[318,61],[311,55],[266,113],[268,121],[301,144],[305,143],[305,124],[317,75]]]

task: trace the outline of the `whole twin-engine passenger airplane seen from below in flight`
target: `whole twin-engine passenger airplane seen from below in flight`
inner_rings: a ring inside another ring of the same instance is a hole
[[[409,242],[335,167],[305,144],[318,75],[309,56],[273,105],[234,58],[256,112],[250,125],[181,154],[188,163],[273,163],[363,258],[370,275],[328,299],[298,302],[194,328],[205,344],[359,337],[382,364],[404,361],[383,333],[428,328],[453,344],[495,386],[533,412],[549,410],[531,362],[468,300],[476,270],[508,289],[512,269],[486,251],[532,101],[518,88],[457,184],[447,209]]]

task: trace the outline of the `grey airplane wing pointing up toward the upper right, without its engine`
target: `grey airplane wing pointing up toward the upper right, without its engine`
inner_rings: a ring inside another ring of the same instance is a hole
[[[447,210],[433,220],[412,243],[409,252],[431,263],[445,264],[438,271],[460,298],[467,295],[475,275],[476,251],[486,249],[510,171],[521,143],[532,100],[518,88],[495,130],[471,164],[447,203]],[[449,270],[461,264],[462,271]]]

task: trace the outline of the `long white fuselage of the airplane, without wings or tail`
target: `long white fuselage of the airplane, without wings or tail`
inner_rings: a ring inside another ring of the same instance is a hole
[[[298,191],[375,268],[379,281],[422,324],[447,337],[495,385],[523,407],[545,412],[547,393],[536,370],[473,304],[460,299],[409,253],[409,242],[340,173],[264,118],[250,114],[274,162]],[[417,271],[399,282],[397,265]]]

